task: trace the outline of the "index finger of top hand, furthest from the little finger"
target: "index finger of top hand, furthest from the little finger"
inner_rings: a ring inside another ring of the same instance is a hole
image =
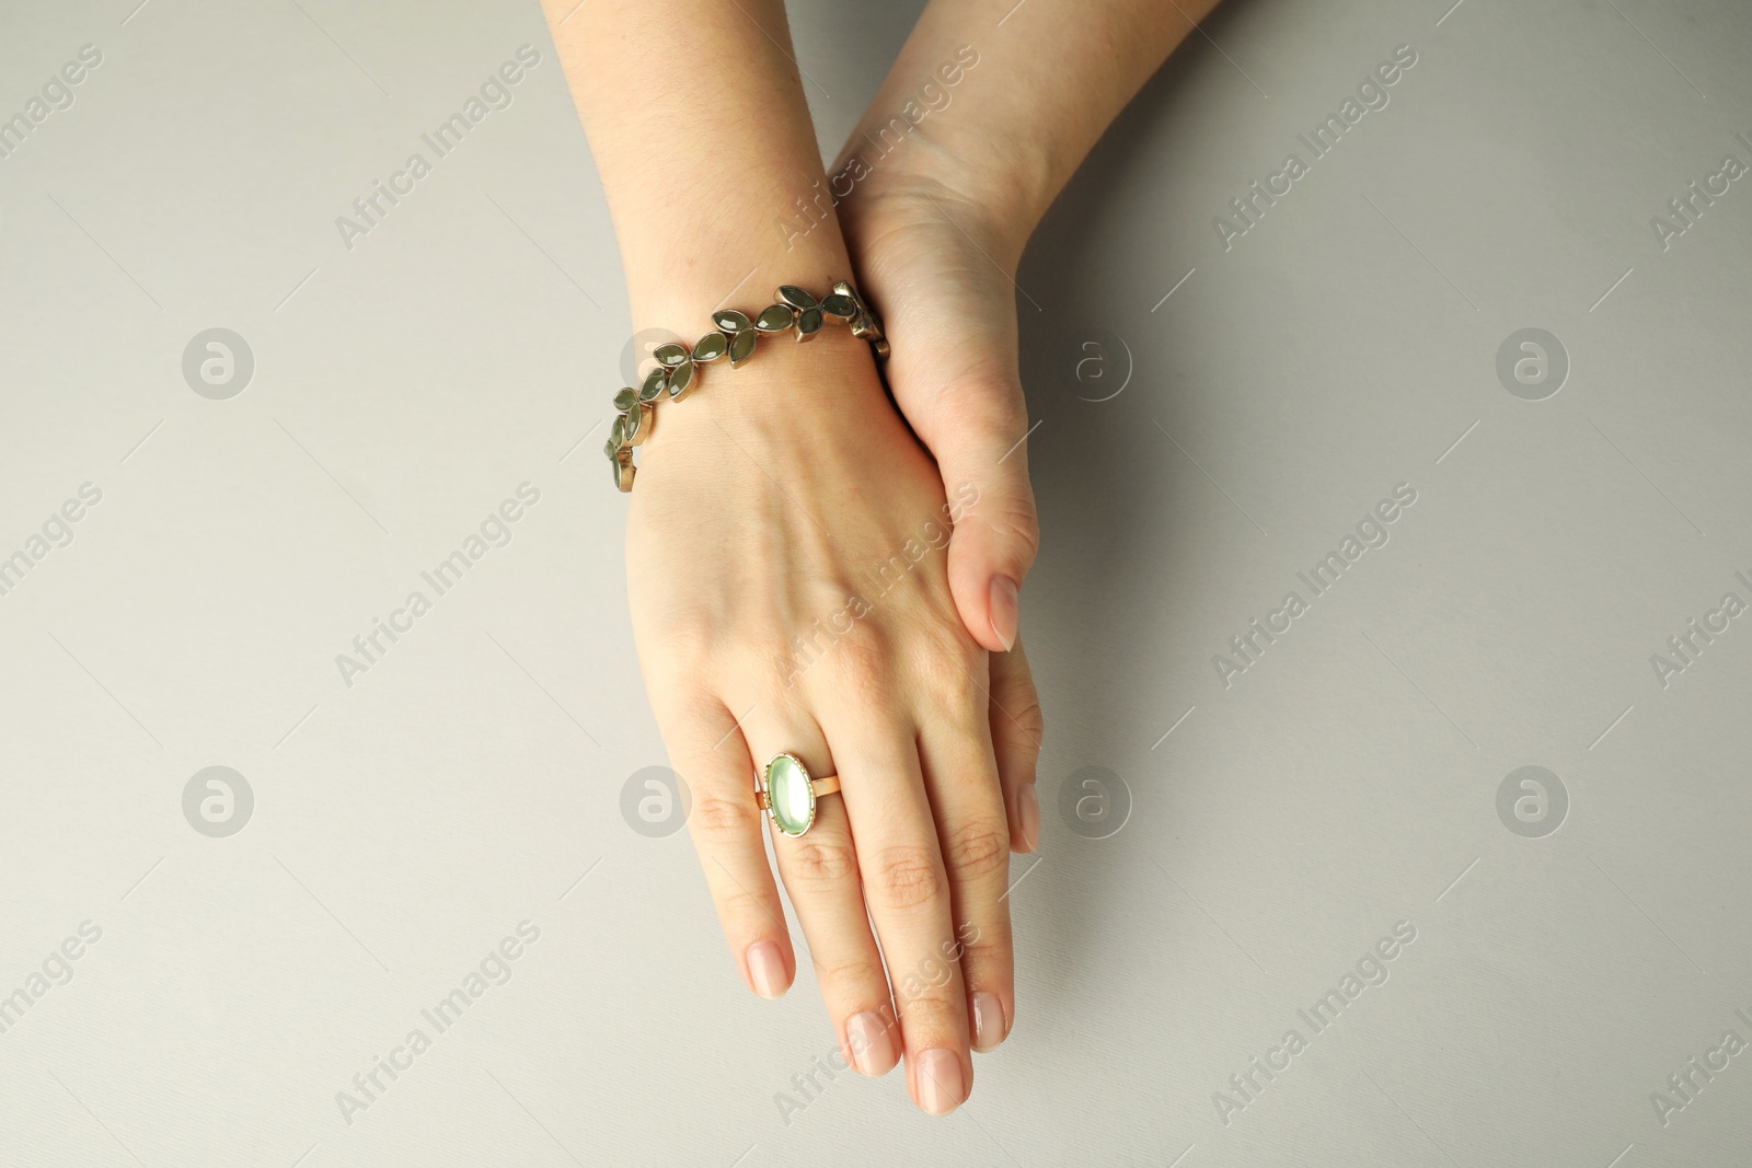
[[[979,657],[985,657],[983,653]],[[976,662],[976,669],[983,662]],[[950,876],[955,940],[976,1051],[997,1047],[1016,1016],[1009,932],[1009,816],[992,751],[985,681],[967,676],[920,718],[920,762]]]

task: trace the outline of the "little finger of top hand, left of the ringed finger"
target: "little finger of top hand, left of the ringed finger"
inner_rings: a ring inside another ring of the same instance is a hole
[[[748,746],[717,699],[657,700],[655,690],[652,695],[669,758],[692,795],[687,832],[724,939],[748,988],[762,998],[778,998],[790,988],[797,958],[760,837]]]

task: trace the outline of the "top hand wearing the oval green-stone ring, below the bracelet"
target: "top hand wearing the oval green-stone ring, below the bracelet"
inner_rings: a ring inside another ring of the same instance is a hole
[[[932,546],[951,499],[867,347],[830,329],[766,338],[748,366],[708,366],[666,403],[627,517],[639,664],[743,977],[776,998],[795,972],[753,792],[790,751],[843,785],[773,848],[844,1058],[881,1075],[904,1052],[932,1114],[967,1098],[969,1047],[997,1045],[1016,1016],[1014,792],[999,785],[986,653]]]

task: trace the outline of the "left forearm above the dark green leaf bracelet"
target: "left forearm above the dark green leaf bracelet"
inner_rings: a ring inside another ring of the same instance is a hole
[[[806,233],[774,228],[823,179],[781,0],[543,9],[608,194],[634,327],[703,333],[738,285],[729,306],[760,308],[778,284],[822,294],[851,275],[830,214]]]

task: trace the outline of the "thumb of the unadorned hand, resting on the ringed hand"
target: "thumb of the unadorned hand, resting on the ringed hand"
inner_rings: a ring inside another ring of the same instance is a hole
[[[1021,385],[962,385],[944,396],[932,422],[927,445],[955,522],[950,592],[972,639],[1007,653],[1016,644],[1018,592],[1041,546]]]

